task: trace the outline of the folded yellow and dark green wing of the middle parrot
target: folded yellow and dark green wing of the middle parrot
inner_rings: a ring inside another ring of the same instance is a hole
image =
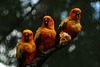
[[[41,27],[39,27],[38,28],[38,30],[36,31],[36,34],[35,34],[35,36],[34,36],[34,41],[35,41],[35,44],[36,44],[36,51],[38,52],[38,50],[39,50],[39,45],[40,45],[40,43],[41,43],[41,38],[42,38],[42,36],[41,36]]]

